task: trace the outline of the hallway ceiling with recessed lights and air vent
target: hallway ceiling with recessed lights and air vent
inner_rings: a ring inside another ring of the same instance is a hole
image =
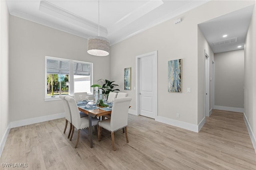
[[[198,24],[214,53],[244,49],[253,8],[254,6],[248,6]],[[223,35],[227,37],[222,37]]]

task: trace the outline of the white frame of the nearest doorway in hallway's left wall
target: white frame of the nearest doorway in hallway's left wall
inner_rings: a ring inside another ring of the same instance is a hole
[[[204,116],[209,117],[209,102],[210,102],[210,63],[209,63],[210,57],[206,53],[206,50],[204,50]],[[206,93],[208,95],[206,95]]]

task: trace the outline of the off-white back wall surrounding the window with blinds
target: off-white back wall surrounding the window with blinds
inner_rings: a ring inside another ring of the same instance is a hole
[[[10,121],[63,113],[45,102],[45,56],[93,63],[94,83],[110,78],[110,56],[87,53],[87,39],[10,16]]]

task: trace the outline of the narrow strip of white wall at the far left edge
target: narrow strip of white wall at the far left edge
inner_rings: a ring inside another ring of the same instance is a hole
[[[0,1],[0,155],[10,129],[9,115],[9,12]]]

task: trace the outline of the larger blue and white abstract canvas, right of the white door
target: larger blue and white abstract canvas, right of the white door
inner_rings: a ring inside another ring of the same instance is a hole
[[[168,92],[181,92],[182,59],[168,61]]]

